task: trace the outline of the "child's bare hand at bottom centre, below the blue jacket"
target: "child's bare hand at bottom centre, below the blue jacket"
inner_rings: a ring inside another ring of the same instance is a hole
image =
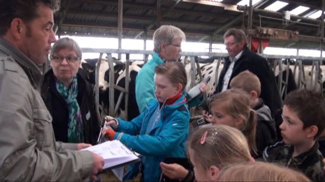
[[[179,164],[166,164],[161,162],[162,173],[170,179],[182,180],[186,177],[188,170]]]

